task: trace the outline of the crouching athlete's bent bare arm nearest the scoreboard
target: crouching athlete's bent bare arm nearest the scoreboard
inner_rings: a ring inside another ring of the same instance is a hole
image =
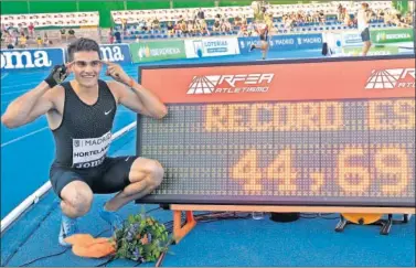
[[[108,83],[111,92],[118,98],[119,104],[131,110],[150,116],[163,118],[168,114],[168,108],[151,90],[142,87],[128,76],[120,65],[103,61],[107,65],[107,75],[119,83]],[[121,83],[121,84],[120,84]]]

